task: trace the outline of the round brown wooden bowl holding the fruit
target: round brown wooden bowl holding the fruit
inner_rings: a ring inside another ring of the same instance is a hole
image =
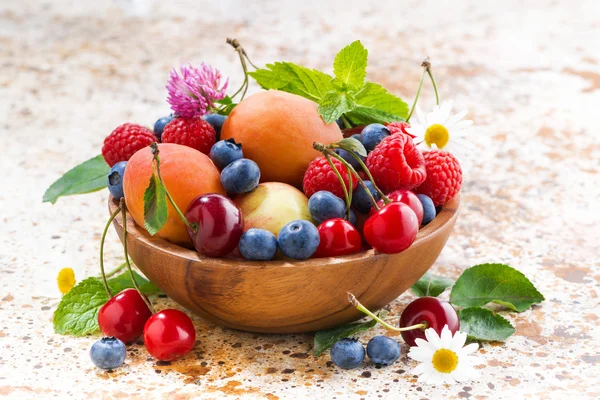
[[[348,303],[352,292],[378,310],[410,288],[435,262],[458,216],[448,202],[399,254],[374,250],[331,258],[268,262],[207,258],[150,236],[127,215],[129,255],[164,293],[219,325],[252,332],[311,332],[364,315]],[[117,207],[109,200],[112,213]],[[122,220],[114,226],[123,240]]]

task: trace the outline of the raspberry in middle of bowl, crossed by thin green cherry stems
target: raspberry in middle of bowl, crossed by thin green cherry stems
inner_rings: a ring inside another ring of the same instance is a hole
[[[348,171],[346,170],[346,167],[335,158],[332,158],[331,161],[333,162],[333,165],[335,165],[335,168],[340,172],[340,175],[346,184],[346,188],[348,188],[350,183],[348,180]],[[357,184],[358,179],[356,176],[352,175],[352,187],[356,188]],[[306,194],[308,197],[312,196],[319,190],[327,190],[335,194],[340,199],[344,199],[344,189],[342,188],[337,175],[331,168],[331,165],[329,165],[327,162],[325,156],[315,158],[308,165],[308,169],[304,173],[302,188],[304,189],[304,194]]]

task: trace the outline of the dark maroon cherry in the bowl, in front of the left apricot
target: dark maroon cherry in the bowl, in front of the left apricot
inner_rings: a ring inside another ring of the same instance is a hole
[[[196,197],[185,217],[198,224],[196,232],[188,228],[194,247],[208,257],[223,257],[238,245],[244,233],[242,212],[227,197],[211,193]]]

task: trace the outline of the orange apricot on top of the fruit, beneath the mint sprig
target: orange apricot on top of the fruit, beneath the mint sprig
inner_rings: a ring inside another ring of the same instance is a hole
[[[242,144],[244,157],[260,167],[261,182],[301,187],[308,164],[320,155],[313,142],[342,140],[336,123],[326,124],[317,103],[304,97],[269,90],[238,104],[221,130],[221,139]]]

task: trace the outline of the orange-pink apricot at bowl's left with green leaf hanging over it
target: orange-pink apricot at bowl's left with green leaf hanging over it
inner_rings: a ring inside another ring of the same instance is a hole
[[[158,145],[160,175],[177,207],[185,214],[193,199],[205,193],[225,194],[219,180],[219,170],[213,162],[198,150],[178,144]],[[127,209],[135,222],[144,226],[144,191],[152,176],[152,153],[150,147],[135,153],[127,162],[123,177],[123,191]],[[185,224],[168,203],[169,217],[156,236],[171,243],[193,247]]]

